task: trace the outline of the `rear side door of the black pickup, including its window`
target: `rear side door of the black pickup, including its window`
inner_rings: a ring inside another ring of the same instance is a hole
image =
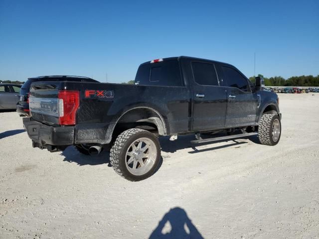
[[[214,63],[196,60],[190,64],[193,75],[192,130],[225,127],[226,90],[225,87],[219,86]]]

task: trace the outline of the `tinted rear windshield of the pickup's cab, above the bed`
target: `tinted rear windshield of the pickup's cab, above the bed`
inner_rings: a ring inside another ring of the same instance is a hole
[[[177,60],[143,64],[139,67],[135,83],[151,86],[182,86]]]

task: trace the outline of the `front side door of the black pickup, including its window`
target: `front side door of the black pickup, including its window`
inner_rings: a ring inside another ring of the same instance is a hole
[[[253,94],[246,77],[231,66],[221,66],[224,86],[227,86],[226,127],[254,125],[257,114],[257,96]]]

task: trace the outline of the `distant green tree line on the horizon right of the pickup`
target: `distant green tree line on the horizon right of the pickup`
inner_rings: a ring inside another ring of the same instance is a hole
[[[275,77],[264,77],[259,74],[258,76],[263,77],[265,81],[265,86],[319,86],[319,75],[318,76],[292,76],[288,79],[285,79],[281,76]],[[251,82],[255,82],[255,77],[249,77]]]

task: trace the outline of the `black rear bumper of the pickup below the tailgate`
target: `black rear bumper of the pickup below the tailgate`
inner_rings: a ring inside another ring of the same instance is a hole
[[[74,143],[74,126],[54,127],[31,118],[23,118],[23,127],[32,139],[33,147],[58,151]]]

